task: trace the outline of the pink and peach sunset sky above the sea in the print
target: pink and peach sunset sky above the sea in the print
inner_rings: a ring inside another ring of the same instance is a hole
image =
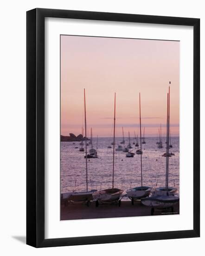
[[[61,35],[61,135],[82,133],[83,88],[87,129],[93,137],[113,132],[116,93],[116,136],[166,134],[170,85],[171,135],[179,135],[179,41]]]

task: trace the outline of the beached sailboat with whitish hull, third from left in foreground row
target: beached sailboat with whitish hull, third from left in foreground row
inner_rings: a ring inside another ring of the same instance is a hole
[[[140,94],[139,94],[139,98],[140,98]],[[140,150],[141,150],[141,144],[142,144],[141,139],[142,138],[141,138],[141,98],[140,98]],[[151,192],[150,187],[143,186],[143,181],[142,181],[142,178],[143,178],[143,175],[142,175],[142,153],[140,155],[141,155],[141,186],[140,187],[135,187],[135,188],[132,188],[132,189],[128,189],[126,191],[129,199],[132,200],[132,204],[134,204],[134,200],[144,198],[144,197],[148,196]]]

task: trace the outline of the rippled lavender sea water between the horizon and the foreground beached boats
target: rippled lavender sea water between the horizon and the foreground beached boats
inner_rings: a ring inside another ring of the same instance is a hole
[[[116,148],[120,141],[122,138],[116,138]],[[125,145],[128,145],[127,138],[125,141]],[[132,144],[133,141],[130,140],[130,143]],[[146,138],[146,144],[142,144],[143,185],[155,187],[156,182],[157,186],[165,185],[166,157],[163,157],[162,154],[166,152],[166,138],[162,138],[162,141],[164,148],[157,148],[154,137]],[[88,159],[89,189],[99,190],[112,187],[113,148],[107,148],[111,142],[111,138],[98,138],[98,158]],[[171,142],[173,148],[170,148],[169,151],[175,156],[169,157],[169,185],[173,186],[175,183],[179,195],[179,137],[172,137]],[[81,147],[79,143],[77,141],[75,144],[61,142],[61,193],[73,189],[86,189],[85,152],[79,151]],[[131,146],[133,147],[132,152],[135,153],[135,145]],[[93,147],[96,148],[96,138],[93,138]],[[89,148],[90,146],[88,146],[88,150]],[[128,158],[126,153],[115,151],[115,188],[126,190],[134,186],[141,186],[140,158],[141,156],[136,154],[134,157]]]

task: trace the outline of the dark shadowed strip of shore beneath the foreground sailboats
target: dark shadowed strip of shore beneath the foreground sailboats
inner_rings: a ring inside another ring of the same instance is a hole
[[[154,210],[154,215],[179,214],[179,204],[175,205],[174,213],[171,209]],[[96,218],[116,218],[116,217],[133,217],[133,216],[150,216],[151,208],[135,201],[122,201],[121,207],[118,204],[100,204],[95,206],[95,202],[86,204],[69,204],[61,205],[61,220],[78,220],[78,219],[96,219]]]

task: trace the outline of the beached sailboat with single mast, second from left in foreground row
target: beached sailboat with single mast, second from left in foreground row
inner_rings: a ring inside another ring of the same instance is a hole
[[[113,133],[113,170],[112,170],[112,188],[102,189],[93,193],[93,198],[96,200],[96,207],[100,203],[119,202],[120,196],[123,193],[122,189],[114,188],[114,170],[115,170],[115,107],[114,107],[114,133]]]

